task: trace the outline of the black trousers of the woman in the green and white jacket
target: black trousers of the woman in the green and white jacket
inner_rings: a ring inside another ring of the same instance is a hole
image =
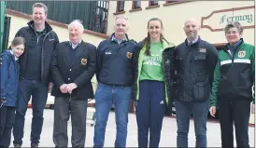
[[[218,101],[221,129],[221,145],[234,147],[233,125],[235,121],[235,138],[237,147],[249,147],[250,101]]]

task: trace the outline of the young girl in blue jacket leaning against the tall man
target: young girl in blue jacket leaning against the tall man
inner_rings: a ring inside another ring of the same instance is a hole
[[[1,61],[0,98],[0,147],[9,147],[11,128],[15,121],[15,107],[18,101],[19,57],[24,52],[25,40],[15,37],[10,49],[5,50]]]

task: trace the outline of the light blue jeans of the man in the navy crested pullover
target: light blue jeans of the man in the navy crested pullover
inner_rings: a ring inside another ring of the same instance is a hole
[[[109,111],[114,103],[117,134],[115,147],[125,147],[131,87],[109,86],[99,83],[95,93],[96,124],[94,127],[94,147],[103,147]]]

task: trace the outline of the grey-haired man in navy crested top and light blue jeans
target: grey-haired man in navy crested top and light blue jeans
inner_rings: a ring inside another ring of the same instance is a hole
[[[107,117],[112,104],[115,106],[117,135],[115,147],[125,147],[129,104],[132,98],[134,81],[133,54],[135,42],[126,32],[127,19],[115,20],[115,33],[100,43],[97,49],[98,87],[95,93],[96,124],[94,128],[94,147],[103,147]]]

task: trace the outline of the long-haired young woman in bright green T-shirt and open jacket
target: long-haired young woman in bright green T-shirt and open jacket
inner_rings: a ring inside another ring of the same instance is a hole
[[[148,36],[135,51],[135,112],[138,147],[158,147],[172,87],[174,46],[162,34],[162,20],[148,21]]]

